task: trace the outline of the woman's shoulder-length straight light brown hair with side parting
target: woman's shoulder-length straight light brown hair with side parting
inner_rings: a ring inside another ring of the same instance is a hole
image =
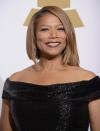
[[[38,18],[45,15],[45,13],[51,13],[55,15],[63,24],[66,33],[66,47],[62,52],[62,63],[71,66],[79,66],[79,55],[77,51],[76,36],[74,27],[67,16],[67,14],[57,6],[45,6],[37,11],[31,18],[26,36],[26,50],[28,57],[36,63],[37,59],[40,59],[39,50],[36,46],[36,24]]]

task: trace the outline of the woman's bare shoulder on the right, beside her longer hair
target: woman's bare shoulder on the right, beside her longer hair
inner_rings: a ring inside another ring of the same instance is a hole
[[[76,67],[78,75],[84,80],[90,80],[96,76],[96,74],[90,70],[87,70],[82,67]]]

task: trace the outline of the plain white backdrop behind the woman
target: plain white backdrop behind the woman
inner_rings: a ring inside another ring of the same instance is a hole
[[[47,1],[52,3],[52,0]],[[79,20],[72,15],[77,26],[75,31],[80,65],[100,75],[100,0],[65,1],[69,5],[64,9],[70,12],[75,9],[77,13],[74,13],[80,16]],[[41,5],[44,0],[0,0],[0,109],[5,79],[12,73],[33,64],[26,54],[25,22],[32,9],[41,8],[39,2]]]

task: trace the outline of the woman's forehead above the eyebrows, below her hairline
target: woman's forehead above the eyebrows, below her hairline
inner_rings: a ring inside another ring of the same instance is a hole
[[[62,22],[60,21],[60,19],[51,13],[43,14],[41,17],[39,17],[37,19],[36,23],[38,25],[46,25],[46,24],[47,25],[54,25],[54,24],[55,25],[58,25],[58,24],[62,25]]]

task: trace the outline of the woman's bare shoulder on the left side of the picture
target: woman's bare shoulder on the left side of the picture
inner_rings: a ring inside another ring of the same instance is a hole
[[[9,79],[11,81],[20,81],[24,79],[24,77],[27,76],[29,72],[31,72],[31,66],[13,73],[11,76],[9,76]]]

